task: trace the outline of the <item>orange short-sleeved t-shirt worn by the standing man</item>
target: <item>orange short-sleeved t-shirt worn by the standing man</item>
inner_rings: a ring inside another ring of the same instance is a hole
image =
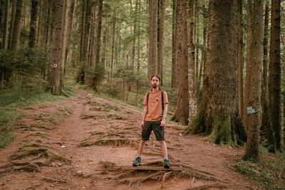
[[[167,93],[163,91],[163,103],[168,103]],[[147,105],[147,115],[145,121],[159,121],[162,120],[162,99],[161,91],[150,91],[147,102],[147,94],[143,100],[143,105]]]

